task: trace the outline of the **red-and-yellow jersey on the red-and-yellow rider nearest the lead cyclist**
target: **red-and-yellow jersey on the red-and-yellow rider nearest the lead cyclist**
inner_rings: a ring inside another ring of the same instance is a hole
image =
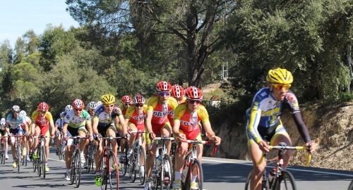
[[[199,104],[196,111],[190,111],[187,103],[181,103],[174,112],[174,120],[180,120],[180,127],[186,139],[196,139],[201,130],[198,122],[203,122],[203,125],[210,123],[208,112],[205,106]]]

